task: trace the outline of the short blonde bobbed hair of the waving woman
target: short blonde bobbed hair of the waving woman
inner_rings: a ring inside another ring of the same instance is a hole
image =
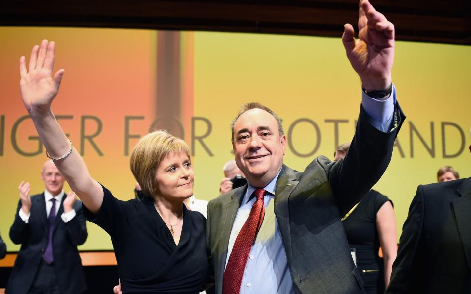
[[[131,152],[129,165],[146,196],[155,197],[156,170],[161,161],[171,153],[184,152],[190,158],[188,145],[165,130],[158,130],[142,137]]]

